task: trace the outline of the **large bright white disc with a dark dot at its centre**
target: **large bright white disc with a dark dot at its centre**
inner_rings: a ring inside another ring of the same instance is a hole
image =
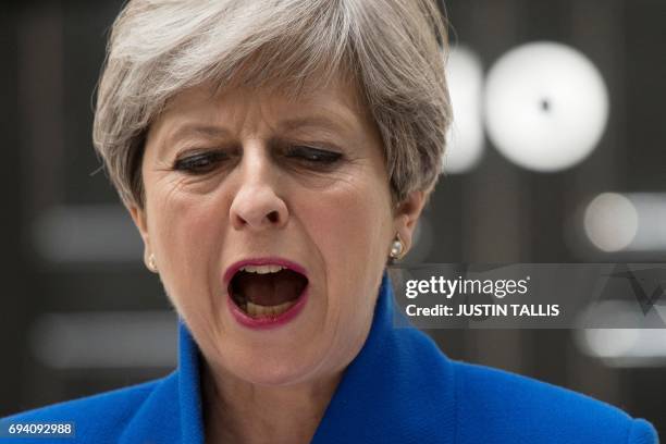
[[[608,92],[594,64],[576,49],[528,44],[491,69],[485,120],[489,137],[510,161],[560,171],[599,144],[608,120]]]

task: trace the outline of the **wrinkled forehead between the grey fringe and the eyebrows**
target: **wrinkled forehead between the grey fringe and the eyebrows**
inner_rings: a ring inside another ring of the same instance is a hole
[[[166,126],[160,140],[161,155],[184,138],[259,137],[264,131],[273,134],[323,132],[354,137],[372,128],[356,89],[343,82],[298,97],[274,89],[248,94],[247,89],[238,88],[211,94],[203,85],[178,96],[171,100],[161,122],[152,128],[159,133],[160,126]],[[363,127],[365,123],[370,126]]]

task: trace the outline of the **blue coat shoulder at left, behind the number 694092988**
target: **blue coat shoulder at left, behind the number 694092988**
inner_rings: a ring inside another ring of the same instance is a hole
[[[168,379],[24,411],[2,418],[1,422],[74,422],[77,442],[95,442],[88,440],[91,437],[97,442],[116,442],[146,399]]]

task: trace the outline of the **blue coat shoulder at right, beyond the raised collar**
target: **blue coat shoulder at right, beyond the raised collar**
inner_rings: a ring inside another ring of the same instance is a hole
[[[460,442],[657,443],[648,421],[570,390],[464,362],[454,374]]]

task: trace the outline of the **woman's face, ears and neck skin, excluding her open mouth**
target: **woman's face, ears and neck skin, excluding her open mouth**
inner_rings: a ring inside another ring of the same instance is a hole
[[[141,173],[146,203],[130,210],[205,357],[207,442],[309,442],[424,194],[392,203],[379,133],[342,82],[298,99],[184,91],[151,125]],[[303,266],[309,297],[289,323],[256,331],[231,316],[222,276],[267,256]]]

